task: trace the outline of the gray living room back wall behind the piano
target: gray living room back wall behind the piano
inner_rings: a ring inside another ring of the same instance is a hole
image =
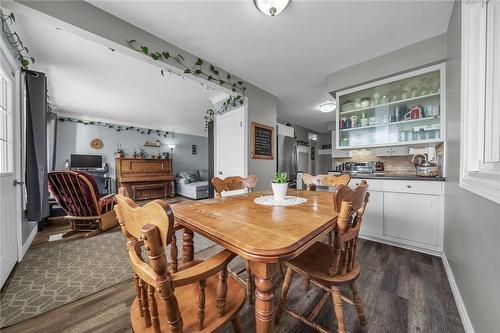
[[[104,147],[95,150],[90,147],[90,141],[100,138]],[[115,158],[116,144],[120,143],[125,149],[127,156],[133,154],[134,149],[139,150],[146,141],[159,139],[162,143],[160,148],[145,148],[149,154],[157,154],[160,151],[170,152],[167,144],[175,144],[173,154],[174,172],[179,170],[208,169],[208,138],[196,135],[174,134],[174,136],[158,137],[155,135],[143,135],[134,131],[118,132],[111,128],[84,125],[79,123],[59,121],[56,145],[56,169],[64,168],[64,161],[70,159],[71,154],[96,154],[103,156],[103,162],[110,166],[110,176],[113,178],[113,189],[115,180]],[[197,145],[197,154],[191,154],[191,145]]]

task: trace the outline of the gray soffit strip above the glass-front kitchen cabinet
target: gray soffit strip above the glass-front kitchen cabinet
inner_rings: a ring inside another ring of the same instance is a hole
[[[328,75],[328,91],[374,81],[446,59],[446,34],[384,54]]]

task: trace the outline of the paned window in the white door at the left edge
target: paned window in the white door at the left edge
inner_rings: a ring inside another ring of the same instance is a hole
[[[12,101],[11,81],[0,69],[0,173],[11,173],[12,165]]]

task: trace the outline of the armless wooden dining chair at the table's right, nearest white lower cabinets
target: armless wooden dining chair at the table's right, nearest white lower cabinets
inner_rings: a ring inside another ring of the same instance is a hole
[[[285,311],[319,332],[328,332],[324,327],[315,323],[314,320],[331,295],[337,318],[338,332],[345,333],[346,331],[343,301],[355,306],[361,324],[366,325],[363,305],[356,286],[356,280],[361,271],[361,267],[356,260],[356,250],[359,230],[369,198],[367,190],[368,184],[365,180],[361,181],[355,190],[346,185],[337,187],[333,195],[334,208],[339,212],[334,244],[330,246],[322,242],[316,242],[298,257],[286,263],[287,270],[281,288],[275,323],[279,322],[281,314]],[[326,260],[326,258],[330,260]],[[307,277],[315,285],[325,290],[325,294],[307,318],[285,307],[285,299],[294,272]],[[342,296],[340,287],[343,285],[350,287],[353,296],[352,300]]]

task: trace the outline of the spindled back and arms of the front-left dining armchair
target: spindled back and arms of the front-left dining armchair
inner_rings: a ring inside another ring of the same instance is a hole
[[[138,319],[142,321],[140,326],[149,329],[152,326],[151,331],[154,333],[182,332],[181,308],[174,291],[176,287],[196,284],[195,288],[199,295],[197,303],[193,300],[197,306],[197,319],[195,320],[197,320],[198,330],[203,330],[205,328],[205,287],[207,279],[217,272],[220,273],[216,310],[219,317],[223,317],[228,289],[227,264],[235,257],[235,254],[223,250],[206,261],[194,260],[185,263],[182,270],[176,272],[173,268],[169,268],[165,253],[165,247],[169,244],[174,246],[172,239],[175,239],[173,238],[174,214],[170,206],[166,201],[155,200],[140,207],[132,199],[125,197],[124,193],[126,192],[120,189],[119,194],[116,195],[115,210],[122,232],[127,238],[128,253],[134,270],[137,308],[140,309]],[[148,260],[143,258],[144,252]],[[240,298],[242,304],[244,302],[243,291],[241,291]],[[207,310],[213,311],[213,309]],[[237,313],[233,314],[235,315],[237,316]],[[193,312],[189,312],[187,316],[190,317],[187,321],[192,321]],[[213,318],[211,315],[208,317]],[[132,321],[132,325],[136,325],[135,320]],[[221,324],[224,324],[224,321]],[[150,332],[149,329],[145,331]],[[137,332],[135,328],[134,330]]]

